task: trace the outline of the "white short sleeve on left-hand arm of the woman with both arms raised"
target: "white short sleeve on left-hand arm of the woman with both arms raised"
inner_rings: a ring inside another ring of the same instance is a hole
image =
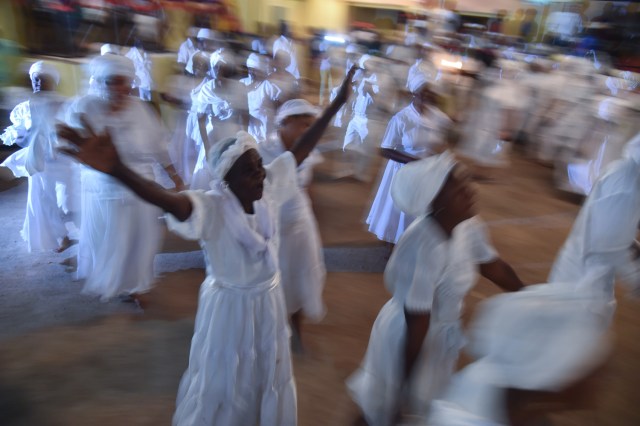
[[[191,215],[185,221],[179,221],[170,213],[165,214],[167,227],[182,238],[188,240],[208,239],[218,209],[215,197],[204,191],[183,191],[191,201]]]

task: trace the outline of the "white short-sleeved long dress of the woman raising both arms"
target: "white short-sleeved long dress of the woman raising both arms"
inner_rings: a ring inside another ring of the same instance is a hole
[[[296,188],[295,159],[267,166],[255,214],[228,189],[188,191],[193,210],[171,230],[199,239],[215,277],[200,288],[189,367],[174,426],[296,424],[289,326],[278,273],[278,210]]]

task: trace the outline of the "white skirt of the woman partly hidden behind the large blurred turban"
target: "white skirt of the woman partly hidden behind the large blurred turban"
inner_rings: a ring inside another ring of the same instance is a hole
[[[397,243],[405,229],[413,222],[413,217],[398,210],[391,198],[391,182],[402,168],[402,164],[393,160],[387,162],[384,174],[378,186],[378,192],[371,205],[367,225],[369,232],[388,243]]]

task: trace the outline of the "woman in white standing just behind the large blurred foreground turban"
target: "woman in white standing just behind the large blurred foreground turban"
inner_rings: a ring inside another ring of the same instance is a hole
[[[387,165],[373,200],[367,224],[380,240],[395,244],[413,221],[391,198],[391,182],[403,164],[438,154],[446,148],[451,120],[438,109],[438,83],[433,76],[415,73],[409,84],[413,99],[395,114],[382,139],[381,154]]]

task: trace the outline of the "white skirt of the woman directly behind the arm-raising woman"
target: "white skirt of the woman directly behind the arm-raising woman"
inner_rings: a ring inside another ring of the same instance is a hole
[[[322,301],[326,269],[311,201],[299,192],[283,210],[288,218],[280,224],[278,258],[287,312],[302,310],[307,319],[318,322],[326,312]]]

